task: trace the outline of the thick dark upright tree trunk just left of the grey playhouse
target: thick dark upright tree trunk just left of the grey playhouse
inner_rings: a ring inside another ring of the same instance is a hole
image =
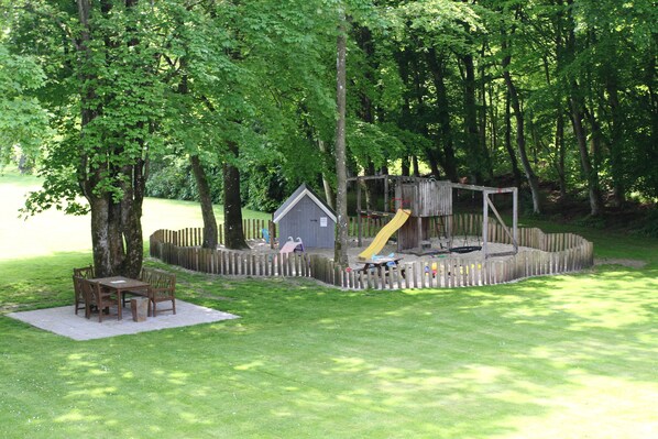
[[[228,160],[223,163],[223,219],[224,246],[231,250],[249,249],[242,230],[242,198],[240,196],[240,169],[232,162],[238,160],[238,143],[227,142]]]

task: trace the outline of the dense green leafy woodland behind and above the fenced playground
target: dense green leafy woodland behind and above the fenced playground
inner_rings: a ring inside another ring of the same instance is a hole
[[[241,206],[340,201],[343,163],[657,235],[656,23],[650,0],[0,0],[0,162],[43,178],[25,215],[91,212],[101,273],[139,271],[146,195],[200,200],[209,237],[223,204],[241,246]]]

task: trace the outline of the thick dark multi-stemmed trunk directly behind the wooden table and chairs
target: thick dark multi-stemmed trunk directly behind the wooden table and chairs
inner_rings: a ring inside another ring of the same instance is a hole
[[[127,7],[133,7],[136,0],[127,2]],[[97,68],[91,59],[95,56],[91,42],[91,2],[89,0],[77,0],[78,19],[81,25],[80,41],[77,46],[78,61],[80,63],[80,141],[86,142],[86,129],[99,117],[103,109],[103,99],[96,92],[95,84],[98,76]],[[100,12],[109,13],[111,4],[107,1],[100,2]],[[136,45],[136,40],[128,44]],[[111,44],[105,42],[106,48]],[[145,122],[139,122],[138,129],[142,129]],[[132,127],[135,128],[135,127]],[[125,128],[124,128],[125,129]],[[135,130],[139,131],[139,130]],[[111,136],[113,133],[109,133]],[[142,139],[132,139],[143,150]],[[146,182],[146,162],[142,158],[135,160],[133,164],[117,167],[110,160],[100,164],[89,165],[89,154],[106,154],[108,156],[120,155],[123,150],[120,145],[113,144],[113,140],[100,139],[101,144],[97,145],[100,151],[80,152],[78,164],[78,178],[83,194],[87,198],[91,211],[91,245],[94,253],[94,265],[98,277],[125,275],[136,277],[142,268],[143,262],[143,234],[142,234],[142,204]],[[101,184],[107,184],[108,176],[114,177],[114,187],[99,190]],[[119,183],[116,183],[119,182]],[[119,197],[118,197],[119,194]]]

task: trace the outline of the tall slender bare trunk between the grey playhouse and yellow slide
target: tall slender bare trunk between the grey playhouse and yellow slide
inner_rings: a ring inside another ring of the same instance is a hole
[[[347,20],[342,6],[339,6],[339,24],[337,37],[336,62],[336,175],[337,194],[336,211],[338,215],[333,261],[340,267],[347,267],[348,261],[348,175],[346,152],[346,57],[347,57]]]

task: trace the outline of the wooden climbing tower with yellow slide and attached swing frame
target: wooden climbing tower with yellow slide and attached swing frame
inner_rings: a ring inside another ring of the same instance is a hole
[[[361,219],[372,216],[393,218],[390,221],[392,227],[382,229],[369,248],[360,254],[362,259],[372,257],[395,232],[397,232],[397,251],[402,253],[426,254],[429,252],[459,253],[470,251],[471,246],[452,246],[457,232],[453,227],[452,199],[454,190],[470,190],[482,194],[481,235],[478,237],[479,245],[472,246],[472,250],[482,250],[485,259],[518,252],[518,190],[515,187],[496,188],[436,180],[434,178],[392,175],[360,176],[350,178],[349,182],[354,182],[357,186],[357,216],[360,219],[357,233],[359,246],[363,245]],[[362,183],[366,182],[371,184],[377,182],[380,186],[383,186],[385,209],[363,209]],[[392,193],[394,194],[393,197],[391,197]],[[492,200],[492,196],[496,194],[512,195],[512,228],[505,224]],[[386,210],[387,207],[390,208]],[[402,212],[405,213],[402,215]],[[512,251],[490,252],[487,248],[490,242],[487,237],[489,227],[485,226],[489,224],[490,212],[493,212],[502,229],[508,234],[513,246]],[[439,237],[438,249],[430,248],[429,237],[431,234]]]

